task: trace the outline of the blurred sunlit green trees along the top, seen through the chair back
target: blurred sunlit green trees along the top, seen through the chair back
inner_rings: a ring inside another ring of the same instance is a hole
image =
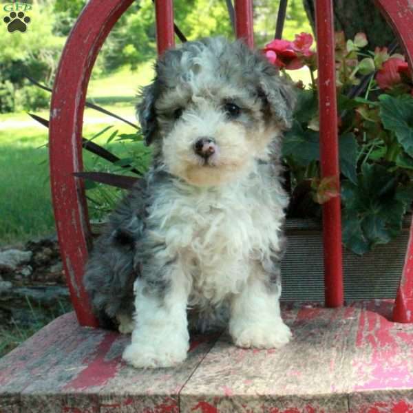
[[[85,0],[34,0],[25,33],[0,36],[0,113],[47,107],[49,96],[30,86],[25,75],[52,85],[65,39]],[[279,1],[254,2],[258,47],[273,37]],[[177,0],[175,21],[188,39],[221,34],[233,38],[224,0]],[[47,18],[46,18],[47,17]],[[132,71],[156,56],[152,0],[138,0],[116,23],[105,41],[93,76],[107,76],[123,67]],[[310,31],[301,0],[290,0],[284,34]]]

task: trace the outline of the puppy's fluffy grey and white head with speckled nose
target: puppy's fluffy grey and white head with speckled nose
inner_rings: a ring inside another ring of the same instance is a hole
[[[140,125],[157,162],[198,186],[236,180],[268,158],[293,113],[290,86],[275,67],[222,38],[165,52],[142,92]]]

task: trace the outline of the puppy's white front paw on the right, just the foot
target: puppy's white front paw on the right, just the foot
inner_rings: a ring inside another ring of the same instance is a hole
[[[260,322],[233,322],[229,332],[235,346],[242,348],[280,348],[292,337],[290,328],[282,319],[271,324]]]

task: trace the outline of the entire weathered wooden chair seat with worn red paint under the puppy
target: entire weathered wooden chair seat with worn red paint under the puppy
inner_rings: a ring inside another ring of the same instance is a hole
[[[0,359],[0,412],[413,412],[413,324],[388,321],[392,304],[284,304],[286,347],[192,337],[181,366],[158,370],[126,366],[129,337],[69,313]]]

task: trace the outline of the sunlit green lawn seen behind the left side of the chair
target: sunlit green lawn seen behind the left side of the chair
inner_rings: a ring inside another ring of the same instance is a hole
[[[136,123],[136,92],[139,87],[151,81],[153,71],[151,62],[147,62],[136,72],[120,70],[110,76],[92,79],[89,84],[87,99],[127,120]],[[36,112],[48,118],[47,110]],[[104,145],[112,131],[119,134],[132,134],[134,129],[125,123],[116,122],[107,115],[86,109],[83,136],[91,138],[108,125],[113,125],[106,134],[96,139]],[[90,123],[92,121],[92,123]],[[52,214],[48,171],[47,129],[34,125],[28,114],[0,114],[0,245],[26,242],[33,237],[40,237],[55,231]],[[112,142],[109,149],[120,158],[129,151],[139,151],[141,145],[124,145]],[[88,152],[84,154],[85,169],[109,170],[108,162],[99,160]],[[147,158],[142,162],[147,163]],[[115,168],[119,169],[119,168]],[[114,202],[116,194],[98,186],[91,191],[91,198],[108,204]],[[96,209],[97,207],[97,209]],[[96,204],[91,204],[92,218],[100,218],[102,211]]]

